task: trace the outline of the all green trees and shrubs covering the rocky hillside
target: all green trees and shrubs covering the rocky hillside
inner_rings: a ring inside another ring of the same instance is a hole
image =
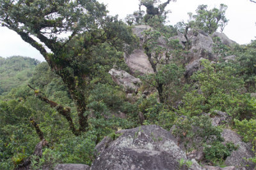
[[[58,162],[90,165],[100,140],[105,136],[115,138],[118,129],[140,124],[157,124],[168,131],[175,125],[173,134],[180,142],[193,143],[199,136],[204,139],[202,143],[187,145],[186,149],[205,145],[205,159],[222,164],[236,146],[223,145],[221,127],[212,126],[211,118],[203,114],[214,117],[215,110],[232,118],[223,127],[236,129],[244,141],[256,146],[256,99],[250,95],[256,92],[256,41],[226,46],[215,39],[217,62],[202,60],[203,68],[185,78],[190,45],[182,48],[177,39],[170,40],[177,31],[186,37],[189,29],[202,29],[208,34],[223,30],[227,6],[221,4],[220,9],[212,10],[199,6],[188,23],[172,26],[164,22],[168,13],[164,8],[170,1],[159,4],[141,0],[140,6],[147,11],[129,15],[127,24],[107,16],[106,7],[97,1],[49,2],[0,1],[2,25],[16,31],[46,60],[38,64],[22,57],[0,58],[0,87],[6,88],[0,96],[0,169],[13,169],[32,155],[40,141],[31,125],[33,121],[39,125],[48,147],[42,158],[31,157],[32,169],[52,167]],[[41,9],[35,10],[38,6]],[[58,13],[58,17],[52,13]],[[152,27],[145,31],[142,46],[154,73],[140,75],[143,85],[138,94],[126,97],[108,71],[115,65],[130,72],[123,56],[139,44],[131,33],[132,25],[138,24]],[[66,31],[72,32],[71,36],[58,37]],[[160,37],[166,46],[157,43]],[[228,55],[236,55],[236,59],[225,62],[223,58]],[[2,85],[7,81],[9,86]],[[151,94],[145,98],[141,94],[148,89]],[[143,122],[138,118],[141,114]],[[213,135],[216,138],[207,140]]]

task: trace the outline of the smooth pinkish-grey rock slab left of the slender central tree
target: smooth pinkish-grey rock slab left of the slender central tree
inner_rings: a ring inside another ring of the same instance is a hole
[[[132,73],[154,73],[147,55],[142,48],[134,50],[131,55],[125,55],[125,63],[131,69]]]

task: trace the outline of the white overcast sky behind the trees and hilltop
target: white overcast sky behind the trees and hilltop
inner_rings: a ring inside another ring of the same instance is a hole
[[[138,10],[139,0],[100,0],[108,5],[110,15],[118,15],[120,19],[127,14]],[[224,29],[228,38],[239,44],[250,43],[256,36],[256,4],[249,0],[177,0],[171,2],[166,10],[172,13],[168,16],[170,25],[175,25],[182,20],[188,20],[188,12],[195,13],[200,4],[207,4],[209,8],[218,8],[220,4],[227,4],[226,17],[229,22]],[[15,32],[0,27],[0,56],[10,57],[22,55],[44,60],[42,55],[31,45],[25,43]]]

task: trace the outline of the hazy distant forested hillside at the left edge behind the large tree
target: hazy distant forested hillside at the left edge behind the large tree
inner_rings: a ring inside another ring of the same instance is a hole
[[[0,57],[0,94],[26,84],[39,63],[38,60],[29,57]]]

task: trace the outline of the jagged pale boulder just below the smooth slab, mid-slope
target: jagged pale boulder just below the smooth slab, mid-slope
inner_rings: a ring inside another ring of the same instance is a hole
[[[138,92],[141,85],[140,78],[135,78],[123,70],[111,69],[108,73],[111,74],[113,81],[124,87],[126,92]]]

